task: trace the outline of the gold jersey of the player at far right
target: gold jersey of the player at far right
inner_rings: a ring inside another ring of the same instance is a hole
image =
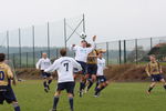
[[[146,65],[146,73],[148,74],[160,74],[160,70],[162,70],[162,67],[159,64],[159,62],[149,62],[147,65]]]

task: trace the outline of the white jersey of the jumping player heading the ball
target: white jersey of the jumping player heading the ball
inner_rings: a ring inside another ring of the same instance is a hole
[[[83,48],[80,46],[72,47],[72,50],[75,51],[75,60],[81,62],[87,61],[87,56],[95,49],[95,43],[92,44],[92,48]]]

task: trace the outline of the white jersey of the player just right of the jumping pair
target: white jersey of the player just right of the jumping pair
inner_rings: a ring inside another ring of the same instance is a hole
[[[97,58],[97,74],[96,75],[104,75],[104,69],[105,69],[105,59]]]

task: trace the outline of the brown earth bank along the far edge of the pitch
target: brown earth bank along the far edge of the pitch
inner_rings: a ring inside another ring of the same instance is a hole
[[[166,67],[163,68],[164,73],[166,73]],[[21,79],[42,79],[41,72],[33,68],[29,69],[17,69],[17,74]],[[53,75],[55,77],[56,73]],[[134,81],[147,81],[149,78],[145,72],[145,65],[142,64],[116,64],[108,65],[105,70],[105,75],[110,81],[121,81],[121,82],[134,82]]]

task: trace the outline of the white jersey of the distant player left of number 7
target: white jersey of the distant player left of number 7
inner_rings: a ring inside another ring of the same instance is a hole
[[[35,68],[37,69],[40,69],[40,70],[45,70],[48,69],[49,67],[51,65],[51,61],[49,58],[44,59],[44,58],[41,58],[37,64],[35,64]]]

